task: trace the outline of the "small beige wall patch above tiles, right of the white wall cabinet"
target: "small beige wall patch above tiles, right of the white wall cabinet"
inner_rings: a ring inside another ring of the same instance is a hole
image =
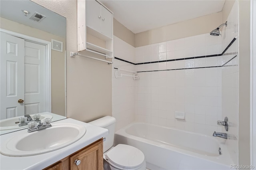
[[[113,27],[114,36],[135,47],[135,34],[133,32],[128,30],[128,28],[118,22],[115,18],[113,20]]]

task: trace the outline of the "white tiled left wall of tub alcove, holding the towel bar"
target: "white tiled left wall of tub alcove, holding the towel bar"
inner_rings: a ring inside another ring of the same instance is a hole
[[[114,56],[135,62],[135,47],[114,36]],[[135,121],[135,81],[132,77],[116,79],[114,68],[135,70],[135,66],[118,59],[112,61],[112,116],[116,118],[117,131]]]

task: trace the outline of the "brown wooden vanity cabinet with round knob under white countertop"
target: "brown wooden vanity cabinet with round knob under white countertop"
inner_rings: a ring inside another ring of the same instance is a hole
[[[76,165],[79,160],[80,164]],[[103,170],[103,140],[97,140],[43,170]]]

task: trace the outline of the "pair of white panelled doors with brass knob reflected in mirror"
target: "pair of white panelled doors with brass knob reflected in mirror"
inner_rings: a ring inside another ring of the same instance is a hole
[[[45,45],[2,32],[0,36],[0,119],[45,112]]]

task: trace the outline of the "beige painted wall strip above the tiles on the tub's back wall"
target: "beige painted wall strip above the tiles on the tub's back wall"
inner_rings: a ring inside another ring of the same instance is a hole
[[[135,47],[210,33],[222,24],[222,12],[135,34]]]

